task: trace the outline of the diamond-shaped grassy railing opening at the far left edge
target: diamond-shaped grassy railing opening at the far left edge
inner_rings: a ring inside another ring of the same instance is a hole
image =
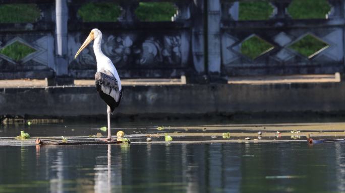
[[[8,56],[14,61],[20,61],[25,58],[27,55],[35,52],[36,50],[26,44],[23,44],[19,41],[15,41],[10,45],[5,46],[0,49],[0,54]]]

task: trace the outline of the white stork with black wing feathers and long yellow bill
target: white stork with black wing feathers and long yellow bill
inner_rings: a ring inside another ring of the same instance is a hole
[[[122,99],[121,80],[115,66],[111,60],[106,57],[101,50],[102,32],[98,29],[91,30],[83,45],[79,48],[74,59],[79,53],[92,41],[93,51],[97,61],[97,72],[95,74],[96,90],[102,100],[108,105],[108,137],[107,141],[112,141],[110,134],[110,113],[119,106]]]

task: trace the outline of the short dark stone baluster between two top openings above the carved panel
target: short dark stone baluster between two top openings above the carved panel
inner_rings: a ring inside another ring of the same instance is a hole
[[[139,6],[137,1],[122,1],[119,6],[121,7],[119,22],[134,22],[137,20],[135,15],[135,10]]]

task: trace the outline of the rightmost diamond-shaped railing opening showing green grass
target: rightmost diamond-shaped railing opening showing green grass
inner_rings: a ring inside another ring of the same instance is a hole
[[[329,44],[311,34],[305,35],[289,46],[290,49],[295,50],[307,58],[314,57],[328,47]]]

